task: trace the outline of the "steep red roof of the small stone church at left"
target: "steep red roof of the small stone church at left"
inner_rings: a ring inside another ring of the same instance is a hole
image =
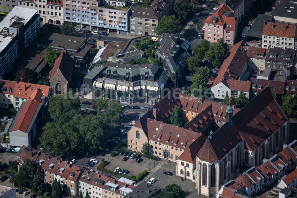
[[[67,50],[64,49],[61,52],[60,56],[56,59],[53,69],[50,70],[50,73],[48,76],[53,77],[56,71],[59,69],[62,75],[64,76],[64,78],[68,81],[72,73],[73,67],[74,67],[74,61],[68,54]]]

